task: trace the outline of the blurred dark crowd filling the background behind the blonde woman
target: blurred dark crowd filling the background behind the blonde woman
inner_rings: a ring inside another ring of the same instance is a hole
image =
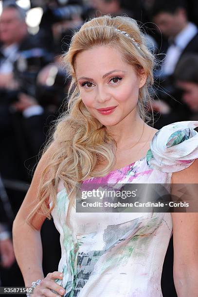
[[[70,78],[60,55],[67,51],[72,34],[90,17],[110,14],[135,18],[156,55],[155,83],[150,89],[154,128],[198,120],[198,1],[32,0],[30,8],[40,6],[43,12],[34,34],[26,22],[26,10],[15,1],[1,4],[0,285],[23,286],[13,252],[12,222],[53,121],[67,108]],[[46,275],[57,270],[61,253],[52,220],[44,222],[41,237]],[[162,273],[166,278],[162,280],[164,297],[177,296],[171,272],[172,247],[169,249]]]

